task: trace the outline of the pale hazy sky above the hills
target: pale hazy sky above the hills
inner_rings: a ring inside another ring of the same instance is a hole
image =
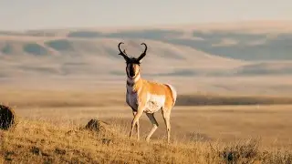
[[[0,30],[292,20],[291,0],[0,0]]]

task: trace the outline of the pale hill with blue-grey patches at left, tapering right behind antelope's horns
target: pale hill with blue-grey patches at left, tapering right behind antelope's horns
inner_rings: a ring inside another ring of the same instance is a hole
[[[0,40],[3,53],[1,57],[3,66],[6,66],[3,74],[10,68],[11,71],[19,69],[21,72],[40,74],[45,71],[47,74],[62,76],[97,73],[124,76],[124,60],[118,55],[120,40],[115,38],[5,40],[2,38]],[[242,61],[209,55],[188,46],[175,46],[161,41],[128,40],[124,41],[127,44],[123,46],[130,56],[140,56],[143,48],[140,45],[142,41],[149,46],[149,52],[143,60],[145,76],[194,76],[202,73],[203,70],[229,69],[245,64]],[[9,60],[5,61],[7,57]],[[40,63],[46,63],[46,65],[40,65]]]

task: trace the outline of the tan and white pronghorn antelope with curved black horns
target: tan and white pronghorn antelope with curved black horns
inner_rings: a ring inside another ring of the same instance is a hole
[[[124,44],[120,42],[118,48],[120,50],[120,45]],[[125,50],[120,50],[120,56],[123,56],[126,60],[126,73],[127,73],[127,94],[126,102],[132,109],[134,118],[131,122],[130,138],[134,127],[136,126],[137,138],[140,139],[140,126],[139,118],[143,112],[146,113],[147,117],[151,120],[153,127],[151,132],[148,134],[146,141],[149,142],[151,135],[158,128],[158,123],[154,118],[154,113],[162,109],[162,117],[166,125],[167,132],[167,142],[170,143],[171,138],[171,111],[176,101],[176,90],[169,84],[162,84],[152,82],[141,77],[141,59],[146,56],[147,45],[145,46],[144,52],[138,58],[129,57]]]

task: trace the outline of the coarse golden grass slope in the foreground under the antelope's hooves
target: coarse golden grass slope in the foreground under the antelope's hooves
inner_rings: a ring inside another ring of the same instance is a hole
[[[14,130],[1,131],[4,163],[289,163],[291,151],[259,149],[248,139],[230,145],[202,141],[167,145],[157,139],[130,140],[110,122],[110,133],[79,129],[79,125],[22,119]],[[68,133],[69,130],[74,131]]]

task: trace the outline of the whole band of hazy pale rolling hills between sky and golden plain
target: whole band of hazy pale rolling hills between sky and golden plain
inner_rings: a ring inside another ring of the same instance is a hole
[[[37,79],[44,80],[42,84],[51,81],[53,86],[60,81],[68,85],[68,80],[70,84],[83,80],[82,87],[89,81],[92,86],[98,81],[123,83],[125,63],[117,48],[123,41],[131,56],[140,55],[141,42],[149,46],[142,64],[144,77],[172,82],[184,91],[280,90],[285,94],[292,87],[287,80],[276,79],[289,80],[292,73],[291,25],[237,23],[225,27],[213,24],[1,32],[0,82],[25,85],[25,81]],[[279,89],[281,86],[287,89]]]

